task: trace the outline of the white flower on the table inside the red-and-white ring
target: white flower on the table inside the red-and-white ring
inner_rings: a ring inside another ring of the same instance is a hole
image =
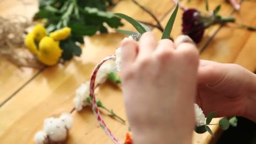
[[[107,80],[107,76],[108,76],[109,72],[115,68],[116,68],[115,61],[113,61],[113,60],[106,61],[100,67],[100,69],[97,73],[96,82],[99,84],[104,83]]]

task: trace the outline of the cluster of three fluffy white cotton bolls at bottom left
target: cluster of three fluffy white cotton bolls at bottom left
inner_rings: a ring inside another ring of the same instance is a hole
[[[72,124],[73,118],[69,113],[63,113],[59,118],[49,117],[44,120],[43,131],[38,131],[34,140],[37,144],[63,142]]]

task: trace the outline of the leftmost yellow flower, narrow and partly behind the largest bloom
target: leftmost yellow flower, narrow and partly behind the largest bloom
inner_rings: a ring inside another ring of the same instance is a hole
[[[27,49],[33,53],[33,54],[37,54],[37,45],[35,44],[35,35],[34,33],[29,33],[27,34],[27,37],[24,40],[24,43],[27,47]]]

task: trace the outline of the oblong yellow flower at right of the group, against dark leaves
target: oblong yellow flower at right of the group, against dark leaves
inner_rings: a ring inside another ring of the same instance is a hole
[[[50,33],[50,37],[54,40],[65,40],[69,37],[71,29],[69,27],[64,27],[63,29],[56,30]]]

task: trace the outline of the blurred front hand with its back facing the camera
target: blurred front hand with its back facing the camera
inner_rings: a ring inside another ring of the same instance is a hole
[[[185,43],[184,43],[185,42]],[[122,83],[135,144],[189,144],[195,128],[198,51],[188,37],[175,44],[147,32],[122,42]]]

